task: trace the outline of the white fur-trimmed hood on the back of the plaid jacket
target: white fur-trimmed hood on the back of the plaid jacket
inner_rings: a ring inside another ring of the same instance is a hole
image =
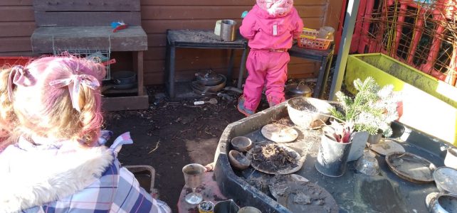
[[[21,138],[0,153],[0,212],[73,195],[100,178],[115,158],[105,146],[78,148],[65,142],[34,146]]]

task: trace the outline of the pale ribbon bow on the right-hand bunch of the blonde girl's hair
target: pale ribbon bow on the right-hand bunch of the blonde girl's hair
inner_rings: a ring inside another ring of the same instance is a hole
[[[71,75],[68,78],[61,80],[53,80],[49,82],[49,85],[54,88],[61,88],[68,86],[68,92],[70,92],[71,104],[73,108],[77,111],[81,111],[79,107],[78,97],[79,97],[79,86],[83,85],[89,87],[90,89],[97,89],[100,87],[100,82],[98,82],[96,77],[93,75]]]

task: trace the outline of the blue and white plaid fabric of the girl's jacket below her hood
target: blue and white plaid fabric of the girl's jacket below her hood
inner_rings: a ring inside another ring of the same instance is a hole
[[[1,208],[1,207],[0,207]],[[155,200],[140,187],[135,176],[126,168],[120,168],[115,160],[99,180],[84,190],[56,202],[33,207],[23,212],[158,212],[171,209]]]

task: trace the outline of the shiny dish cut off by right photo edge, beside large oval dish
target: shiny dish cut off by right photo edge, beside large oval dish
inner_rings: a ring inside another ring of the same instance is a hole
[[[437,168],[434,180],[440,192],[457,196],[457,170],[446,166]]]

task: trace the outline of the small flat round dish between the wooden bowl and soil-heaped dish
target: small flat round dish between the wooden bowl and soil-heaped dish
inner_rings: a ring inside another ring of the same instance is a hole
[[[292,142],[298,137],[295,129],[283,124],[267,124],[262,127],[261,133],[265,138],[276,143]]]

